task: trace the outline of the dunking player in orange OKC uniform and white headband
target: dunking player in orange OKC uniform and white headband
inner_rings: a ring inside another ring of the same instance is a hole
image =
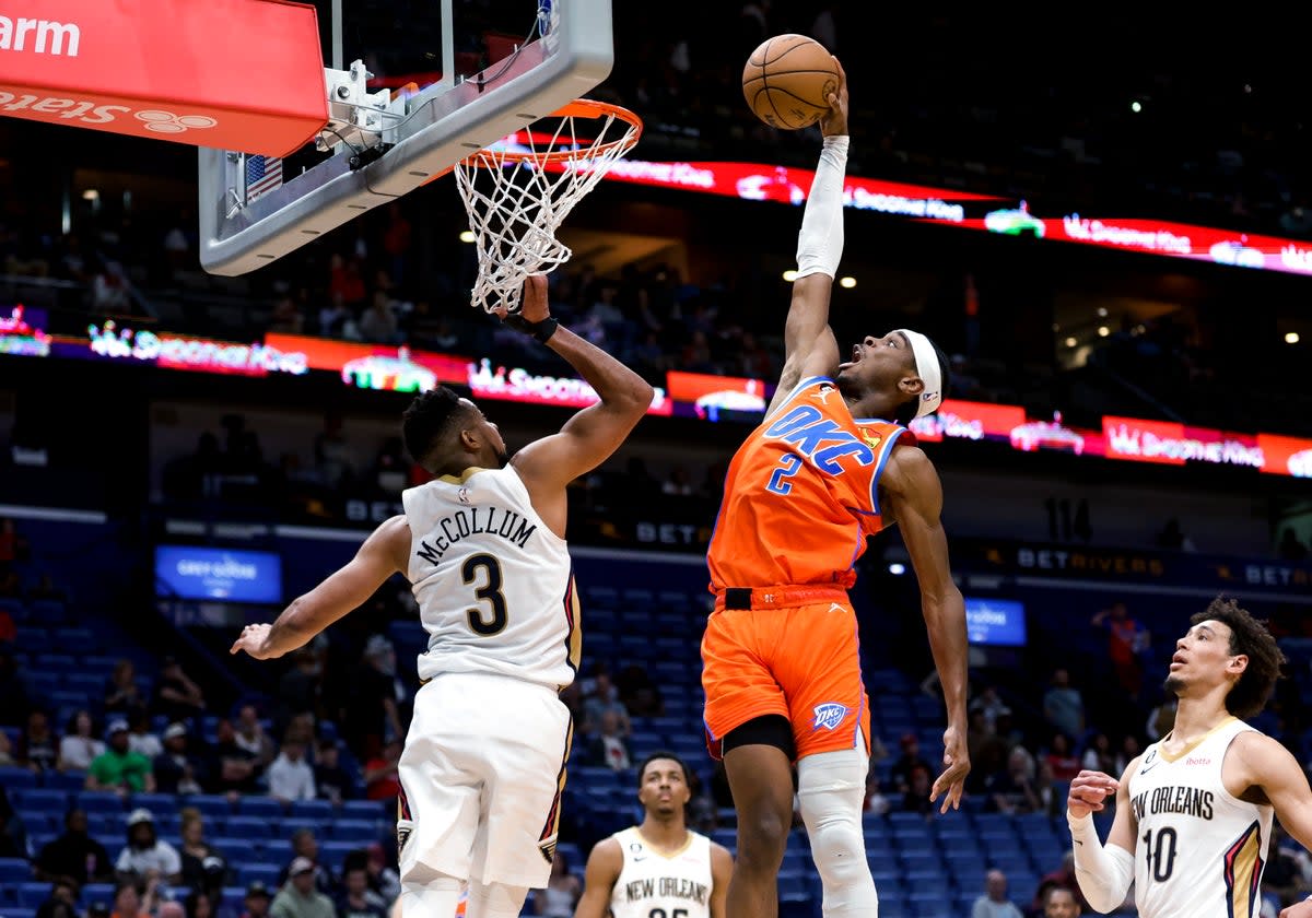
[[[794,759],[825,915],[876,914],[861,831],[870,713],[848,588],[866,538],[893,522],[920,581],[947,704],[946,767],[930,797],[958,807],[970,771],[966,611],[939,523],[943,492],[903,426],[938,408],[947,362],[908,329],[867,337],[838,362],[828,321],[844,235],[845,79],[829,101],[783,374],[765,421],[729,463],[707,559],[716,598],[702,639],[706,733],[739,810],[729,918],[778,913]]]

